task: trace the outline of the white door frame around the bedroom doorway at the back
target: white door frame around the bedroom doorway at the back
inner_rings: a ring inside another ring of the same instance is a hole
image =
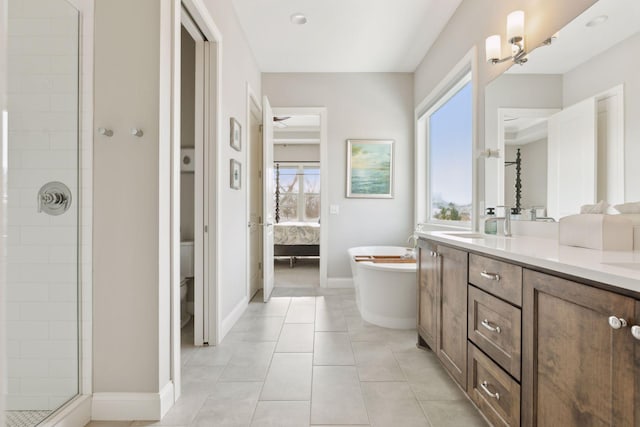
[[[329,254],[329,149],[326,107],[273,107],[276,116],[320,116],[320,287],[328,287]]]

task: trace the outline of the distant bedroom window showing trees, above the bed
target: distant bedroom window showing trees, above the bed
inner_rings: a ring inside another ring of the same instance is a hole
[[[281,222],[318,221],[320,167],[308,164],[281,164],[279,189]]]

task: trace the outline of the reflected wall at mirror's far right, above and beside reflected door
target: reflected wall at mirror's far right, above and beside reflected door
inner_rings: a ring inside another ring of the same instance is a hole
[[[640,200],[640,34],[598,55],[563,76],[567,107],[619,84],[624,85],[625,201]]]

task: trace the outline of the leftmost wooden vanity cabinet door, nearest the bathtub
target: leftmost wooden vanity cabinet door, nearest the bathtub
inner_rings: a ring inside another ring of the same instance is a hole
[[[436,245],[420,240],[418,243],[418,334],[432,350],[436,349],[437,291],[439,263]]]

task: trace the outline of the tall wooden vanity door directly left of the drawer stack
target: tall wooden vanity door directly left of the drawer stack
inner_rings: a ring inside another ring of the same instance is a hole
[[[468,253],[437,247],[438,283],[436,354],[451,376],[467,389]]]

